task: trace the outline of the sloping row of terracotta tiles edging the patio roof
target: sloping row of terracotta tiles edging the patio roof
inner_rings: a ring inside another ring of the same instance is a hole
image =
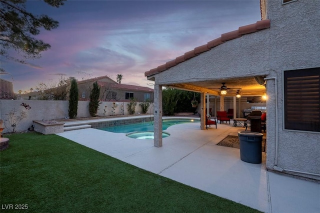
[[[215,38],[214,40],[211,40],[204,45],[197,46],[193,50],[185,52],[183,55],[180,55],[173,60],[167,61],[165,64],[159,65],[156,68],[153,68],[153,69],[150,69],[149,71],[144,72],[144,76],[150,76],[150,75],[153,75],[156,73],[160,73],[160,72],[162,72],[172,66],[177,65],[178,63],[181,63],[181,62],[191,58],[191,57],[194,57],[202,52],[208,51],[211,48],[213,48],[217,45],[220,45],[221,43],[224,43],[227,40],[238,38],[244,34],[256,32],[256,31],[259,31],[261,29],[266,29],[266,28],[270,28],[270,20],[269,19],[259,20],[259,21],[256,21],[256,23],[240,26],[237,30],[223,33],[223,34],[221,34],[220,37]]]

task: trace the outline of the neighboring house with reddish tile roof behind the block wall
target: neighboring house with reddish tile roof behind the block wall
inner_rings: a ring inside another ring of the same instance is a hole
[[[108,76],[100,76],[87,80],[77,81],[79,100],[89,100],[90,91],[94,82],[100,86],[101,101],[130,101],[135,98],[137,102],[153,101],[153,89],[145,86],[120,84]]]

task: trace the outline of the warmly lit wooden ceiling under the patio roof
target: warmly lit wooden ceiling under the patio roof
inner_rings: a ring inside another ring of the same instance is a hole
[[[237,89],[240,89],[242,96],[257,96],[262,95],[265,92],[265,86],[257,82],[263,83],[263,76],[257,77],[242,77],[242,78],[226,78],[226,79],[211,79],[211,80],[199,80],[189,82],[179,82],[166,84],[164,86],[178,88],[182,90],[207,92],[212,95],[220,95],[219,88],[222,86],[222,82],[227,86],[227,94],[225,96],[234,96]]]

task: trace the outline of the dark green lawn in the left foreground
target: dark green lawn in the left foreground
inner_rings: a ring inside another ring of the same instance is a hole
[[[57,135],[4,136],[1,212],[258,212]]]

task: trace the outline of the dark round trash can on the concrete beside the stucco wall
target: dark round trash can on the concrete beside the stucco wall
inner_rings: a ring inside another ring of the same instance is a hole
[[[240,142],[240,159],[250,163],[261,163],[262,133],[238,131]]]

